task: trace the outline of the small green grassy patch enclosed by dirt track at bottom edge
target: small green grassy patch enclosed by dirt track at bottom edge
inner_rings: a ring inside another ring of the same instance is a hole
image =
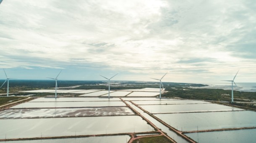
[[[173,143],[168,140],[165,136],[154,136],[154,137],[145,137],[133,140],[132,143]]]

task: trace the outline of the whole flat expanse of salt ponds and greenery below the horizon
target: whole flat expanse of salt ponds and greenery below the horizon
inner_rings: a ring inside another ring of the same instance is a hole
[[[107,82],[58,81],[55,99],[55,82],[11,80],[10,97],[6,87],[0,89],[0,141],[65,142],[79,137],[94,143],[103,138],[109,143],[207,142],[208,138],[222,142],[225,135],[256,130],[256,92],[234,91],[231,104],[230,90],[191,88],[203,84],[163,85],[160,100],[159,82],[112,82],[107,98]],[[255,140],[245,137],[240,141]]]

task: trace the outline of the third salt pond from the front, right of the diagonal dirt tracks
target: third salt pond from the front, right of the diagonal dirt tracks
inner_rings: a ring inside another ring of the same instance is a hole
[[[178,104],[178,105],[139,105],[151,113],[177,113],[177,112],[209,112],[242,110],[218,104]]]

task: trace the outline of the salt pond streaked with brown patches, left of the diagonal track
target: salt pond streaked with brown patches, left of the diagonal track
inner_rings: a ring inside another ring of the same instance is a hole
[[[129,107],[7,109],[0,119],[134,115]]]

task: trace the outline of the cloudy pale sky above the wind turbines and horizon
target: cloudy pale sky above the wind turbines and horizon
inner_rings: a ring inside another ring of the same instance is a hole
[[[3,0],[0,79],[256,82],[255,37],[254,0]]]

